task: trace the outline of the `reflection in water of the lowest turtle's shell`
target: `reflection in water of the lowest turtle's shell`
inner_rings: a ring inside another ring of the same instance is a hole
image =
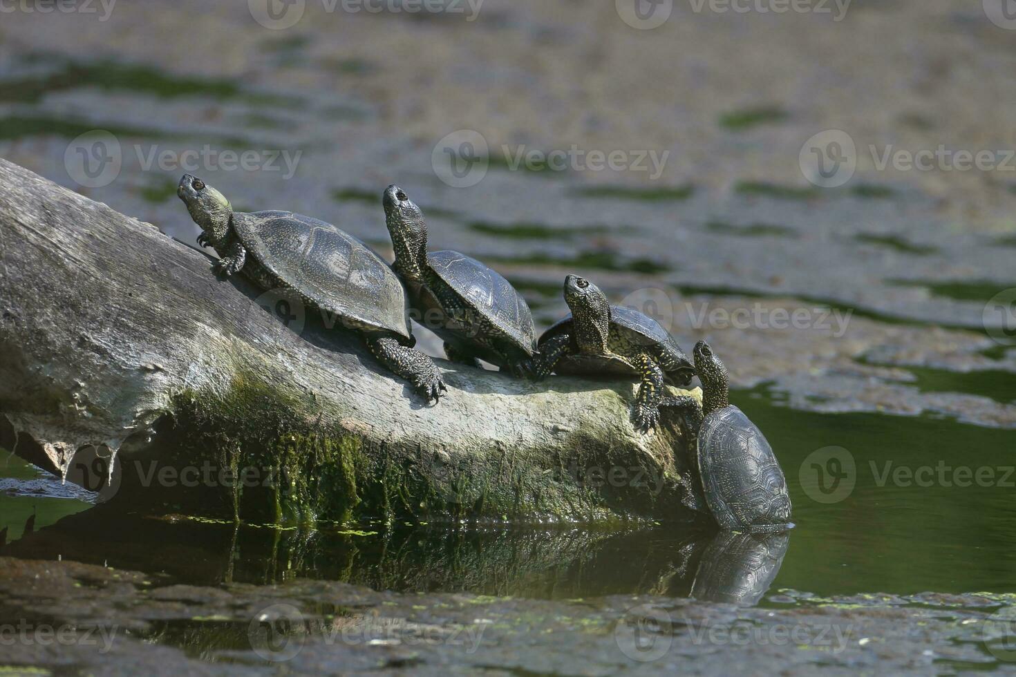
[[[783,563],[789,534],[716,534],[702,554],[691,596],[755,605]]]

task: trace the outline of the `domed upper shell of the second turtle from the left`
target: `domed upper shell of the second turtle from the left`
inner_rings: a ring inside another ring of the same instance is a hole
[[[427,262],[438,277],[526,354],[535,352],[536,328],[529,306],[499,272],[458,252],[428,252]]]

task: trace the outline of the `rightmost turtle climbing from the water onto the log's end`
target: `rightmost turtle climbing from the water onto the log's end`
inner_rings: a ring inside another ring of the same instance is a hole
[[[769,442],[729,403],[722,360],[705,341],[695,344],[702,404],[691,396],[666,398],[661,407],[682,410],[689,425],[705,501],[723,530],[780,532],[790,523],[786,478]]]

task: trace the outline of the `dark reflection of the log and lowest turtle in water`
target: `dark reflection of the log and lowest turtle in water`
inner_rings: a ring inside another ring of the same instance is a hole
[[[754,604],[787,542],[786,535],[676,536],[659,529],[301,531],[170,523],[99,505],[26,534],[0,555],[106,562],[196,585],[301,577],[377,590],[548,599],[644,593]]]

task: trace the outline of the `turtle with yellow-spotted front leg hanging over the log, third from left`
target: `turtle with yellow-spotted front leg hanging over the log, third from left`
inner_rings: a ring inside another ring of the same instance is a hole
[[[568,275],[565,301],[571,313],[539,337],[530,364],[537,380],[551,371],[638,377],[632,422],[648,432],[659,422],[663,384],[687,386],[695,366],[658,322],[630,308],[611,306],[595,284]]]

